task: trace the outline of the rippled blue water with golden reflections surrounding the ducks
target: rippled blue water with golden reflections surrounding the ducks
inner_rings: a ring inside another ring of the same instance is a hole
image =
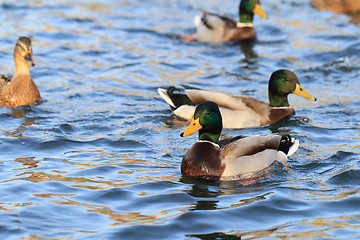
[[[360,238],[360,29],[309,1],[262,1],[254,45],[186,43],[200,9],[236,1],[3,1],[1,73],[21,35],[44,102],[0,108],[1,239]],[[290,132],[289,166],[252,184],[195,182],[157,87],[188,84],[267,101],[293,70],[318,98],[291,96],[284,123],[223,136]]]

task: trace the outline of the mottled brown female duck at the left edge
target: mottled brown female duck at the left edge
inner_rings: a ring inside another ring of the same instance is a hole
[[[35,66],[30,38],[18,39],[14,49],[14,62],[14,76],[0,76],[0,106],[17,107],[37,103],[40,93],[29,72],[29,68]]]

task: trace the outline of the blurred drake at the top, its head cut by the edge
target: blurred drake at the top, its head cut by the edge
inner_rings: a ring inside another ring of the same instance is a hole
[[[252,23],[254,14],[267,18],[259,0],[241,0],[239,4],[239,22],[204,11],[202,16],[196,16],[194,19],[196,34],[185,37],[184,40],[197,39],[199,42],[220,43],[254,39],[256,38]]]

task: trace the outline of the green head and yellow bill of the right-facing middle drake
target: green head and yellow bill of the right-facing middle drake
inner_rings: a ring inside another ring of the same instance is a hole
[[[289,107],[287,96],[290,93],[305,99],[316,101],[310,93],[300,85],[295,73],[290,70],[277,70],[271,74],[269,80],[269,104],[271,107]]]

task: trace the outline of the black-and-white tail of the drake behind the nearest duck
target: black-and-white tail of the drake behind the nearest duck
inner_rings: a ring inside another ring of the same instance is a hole
[[[178,93],[175,93],[176,91]],[[180,93],[180,90],[173,86],[167,90],[158,88],[158,93],[172,109],[176,109],[182,105],[195,105],[186,94]]]

